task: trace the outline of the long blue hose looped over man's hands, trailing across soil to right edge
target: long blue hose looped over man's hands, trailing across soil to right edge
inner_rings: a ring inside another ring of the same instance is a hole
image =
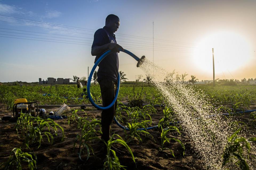
[[[124,53],[126,53],[126,54],[129,54],[131,57],[133,57],[136,61],[139,62],[140,58],[137,57],[137,56],[135,56],[135,55],[134,55],[133,53],[131,53],[130,51],[124,49],[122,52],[124,52]],[[92,77],[93,77],[94,70],[96,69],[96,67],[98,66],[98,64],[103,60],[103,58],[105,58],[105,57],[106,57],[108,54],[110,54],[110,53],[111,53],[111,50],[108,50],[108,51],[106,51],[105,53],[103,53],[101,57],[99,57],[99,59],[95,62],[93,68],[91,69],[91,73],[90,73],[90,75],[89,75],[89,77],[88,77],[88,83],[87,83],[87,95],[88,95],[88,99],[89,99],[89,101],[91,102],[91,104],[92,104],[95,108],[100,109],[100,110],[109,109],[109,108],[111,108],[111,107],[114,105],[115,101],[117,100],[117,96],[118,96],[118,92],[119,92],[119,87],[120,87],[120,74],[118,73],[117,91],[116,91],[116,93],[115,93],[115,98],[114,98],[114,100],[113,100],[108,106],[106,106],[106,107],[100,107],[100,106],[98,106],[97,104],[95,104],[94,101],[93,101],[93,99],[91,98],[90,85],[91,85],[91,79],[92,79]],[[237,113],[250,113],[250,112],[254,112],[254,111],[256,111],[256,110],[249,110],[249,111],[237,112]],[[234,114],[234,113],[214,114],[214,115],[210,115],[209,117],[213,117],[213,116],[217,116],[217,115],[229,115],[229,114]],[[198,119],[198,118],[196,118],[196,119]],[[122,125],[117,121],[117,119],[115,118],[115,116],[114,116],[114,121],[115,121],[115,123],[116,123],[120,128],[125,129],[125,130],[128,130],[128,131],[130,130],[129,128],[126,128],[126,127],[122,126]],[[178,124],[178,123],[180,123],[180,122],[179,122],[179,121],[178,121],[178,122],[173,122],[173,123],[171,122],[170,125]],[[137,129],[137,130],[150,130],[150,129],[157,129],[157,128],[158,128],[158,126],[152,126],[152,127],[141,128],[141,129]]]

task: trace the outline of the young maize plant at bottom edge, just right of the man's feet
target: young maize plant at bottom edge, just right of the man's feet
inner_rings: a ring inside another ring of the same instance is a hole
[[[118,137],[119,139],[114,139],[114,136]],[[105,143],[105,145],[107,146],[107,155],[106,155],[106,162],[104,162],[104,169],[109,169],[109,170],[117,170],[117,169],[125,169],[126,166],[123,166],[120,164],[119,159],[115,153],[114,150],[111,149],[111,146],[114,143],[119,143],[123,146],[126,147],[126,149],[130,152],[131,154],[131,158],[133,159],[133,162],[136,165],[134,156],[133,156],[133,152],[131,151],[130,147],[127,145],[127,143],[117,134],[114,134],[111,136],[111,138],[109,139],[109,141],[107,141],[107,143],[105,141],[103,141]],[[111,153],[113,154],[113,156],[111,156]]]

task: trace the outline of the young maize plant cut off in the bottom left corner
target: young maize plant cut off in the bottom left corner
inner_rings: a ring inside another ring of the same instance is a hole
[[[0,168],[4,166],[7,169],[18,169],[21,170],[21,163],[27,162],[28,168],[30,170],[37,169],[37,155],[31,152],[22,152],[19,148],[14,148],[11,151],[10,157],[7,162],[0,165]]]

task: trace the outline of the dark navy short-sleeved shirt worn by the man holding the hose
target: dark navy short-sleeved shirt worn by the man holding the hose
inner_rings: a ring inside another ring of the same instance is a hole
[[[109,31],[108,27],[105,26],[94,33],[93,45],[91,47],[102,46],[108,43],[117,42],[115,40],[115,35]],[[99,57],[101,57],[101,55],[96,56],[94,63],[99,59]],[[110,53],[99,63],[98,66],[98,82],[103,79],[117,81],[119,67],[118,53]]]

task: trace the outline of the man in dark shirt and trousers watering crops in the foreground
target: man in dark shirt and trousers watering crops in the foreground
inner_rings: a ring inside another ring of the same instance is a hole
[[[107,50],[111,53],[107,55],[100,63],[97,72],[97,81],[101,88],[102,105],[108,106],[115,97],[118,78],[118,53],[123,48],[117,44],[114,32],[117,31],[120,25],[118,16],[110,14],[106,18],[105,27],[98,29],[94,34],[93,45],[91,46],[91,55],[96,56],[95,62]],[[110,138],[110,124],[113,121],[117,101],[107,110],[101,113],[102,137],[105,142]]]

